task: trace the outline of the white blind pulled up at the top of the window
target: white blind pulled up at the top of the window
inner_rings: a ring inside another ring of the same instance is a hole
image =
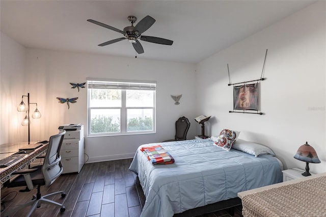
[[[119,90],[156,90],[156,84],[88,80],[88,88],[89,89],[119,89]]]

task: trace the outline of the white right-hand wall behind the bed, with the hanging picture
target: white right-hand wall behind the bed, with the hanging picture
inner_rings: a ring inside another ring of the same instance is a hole
[[[306,141],[322,161],[312,172],[326,171],[325,2],[318,2],[256,33],[197,65],[197,110],[212,115],[209,135],[222,128],[241,131],[240,139],[271,147],[285,168],[304,168],[293,158]],[[233,109],[231,82],[260,78],[265,115],[228,113]]]

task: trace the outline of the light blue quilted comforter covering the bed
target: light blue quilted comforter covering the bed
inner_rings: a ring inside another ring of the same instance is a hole
[[[138,175],[146,197],[142,217],[171,217],[282,181],[279,161],[270,155],[225,151],[212,141],[199,140],[143,146],[157,144],[173,156],[174,164],[152,165],[139,148],[129,167]]]

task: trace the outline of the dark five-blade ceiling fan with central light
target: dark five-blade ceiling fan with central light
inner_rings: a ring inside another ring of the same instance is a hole
[[[122,38],[117,38],[117,39],[113,39],[104,43],[99,44],[98,46],[105,46],[108,44],[113,44],[116,43],[118,41],[122,41],[125,39],[128,39],[129,42],[132,43],[133,48],[136,50],[136,52],[143,53],[144,52],[144,48],[141,45],[141,43],[139,42],[138,39],[142,40],[142,41],[147,41],[147,42],[152,42],[152,43],[156,43],[156,44],[165,44],[165,45],[172,45],[173,41],[168,40],[168,39],[164,39],[164,38],[158,38],[158,37],[153,37],[153,36],[142,36],[142,34],[148,30],[156,21],[153,17],[151,16],[146,16],[144,17],[141,21],[139,21],[137,23],[137,25],[133,26],[133,24],[135,23],[135,21],[137,20],[137,17],[135,16],[128,16],[128,20],[131,23],[130,26],[126,26],[123,31],[122,30],[118,30],[110,25],[106,25],[104,23],[92,20],[92,19],[88,19],[87,21],[92,22],[94,24],[100,25],[104,28],[107,28],[109,30],[113,30],[116,31],[118,33],[121,33],[124,37]]]

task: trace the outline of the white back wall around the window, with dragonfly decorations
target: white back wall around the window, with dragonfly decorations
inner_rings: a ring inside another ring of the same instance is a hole
[[[87,127],[87,89],[78,92],[69,84],[86,82],[87,77],[157,82],[156,133],[86,138],[89,162],[133,157],[139,145],[173,139],[174,123],[181,116],[191,121],[188,138],[194,138],[195,65],[27,49],[26,89],[37,100],[42,114],[40,124],[35,123],[31,130],[31,140],[46,139],[63,124],[82,123]],[[182,94],[179,105],[174,104],[171,94]],[[58,103],[56,97],[78,99],[68,110],[67,104]]]

